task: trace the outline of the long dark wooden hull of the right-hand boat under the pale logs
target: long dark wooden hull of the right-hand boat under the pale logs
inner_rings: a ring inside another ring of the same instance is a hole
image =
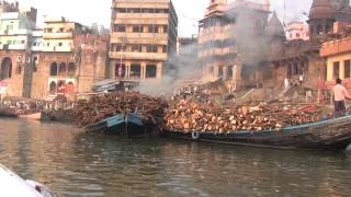
[[[285,127],[281,130],[235,131],[165,131],[166,137],[224,144],[278,148],[346,150],[351,142],[351,116],[313,124]]]

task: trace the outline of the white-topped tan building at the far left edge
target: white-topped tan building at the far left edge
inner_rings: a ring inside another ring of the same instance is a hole
[[[36,23],[36,10],[2,2],[0,13],[0,81],[14,96],[30,96],[32,30]]]

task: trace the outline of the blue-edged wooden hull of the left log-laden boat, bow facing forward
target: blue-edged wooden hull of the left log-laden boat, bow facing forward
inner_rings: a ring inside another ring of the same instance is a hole
[[[143,121],[144,117],[136,113],[118,114],[99,123],[84,127],[90,132],[104,132],[126,137],[139,137],[149,134],[149,128]]]

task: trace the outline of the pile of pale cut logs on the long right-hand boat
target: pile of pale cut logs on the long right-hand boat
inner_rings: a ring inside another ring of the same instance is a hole
[[[285,126],[314,123],[322,118],[310,104],[219,105],[213,102],[176,101],[165,116],[165,129],[176,131],[235,132],[280,130]]]

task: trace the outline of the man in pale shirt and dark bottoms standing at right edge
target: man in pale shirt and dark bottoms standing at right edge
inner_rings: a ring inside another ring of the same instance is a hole
[[[351,100],[348,90],[341,84],[341,79],[337,79],[337,84],[332,88],[335,116],[344,116],[347,112],[346,99]]]

